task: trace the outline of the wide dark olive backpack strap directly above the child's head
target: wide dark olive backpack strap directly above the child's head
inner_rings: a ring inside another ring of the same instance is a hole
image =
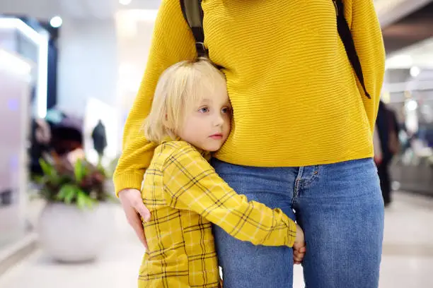
[[[197,56],[207,57],[207,49],[204,47],[202,0],[180,0],[180,8],[194,35]]]

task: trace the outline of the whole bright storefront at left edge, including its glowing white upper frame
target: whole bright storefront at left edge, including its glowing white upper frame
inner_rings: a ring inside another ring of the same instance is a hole
[[[28,133],[47,111],[47,47],[43,31],[0,17],[0,248],[25,235]]]

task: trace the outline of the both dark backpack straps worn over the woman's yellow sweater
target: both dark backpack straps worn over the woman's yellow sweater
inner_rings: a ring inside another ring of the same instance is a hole
[[[359,83],[362,85],[362,89],[364,90],[366,97],[371,99],[365,87],[362,66],[361,62],[359,61],[357,50],[354,46],[352,33],[350,32],[350,27],[345,19],[344,4],[342,3],[342,0],[332,1],[335,6],[335,13],[337,16],[338,35],[340,35],[342,43],[345,46],[347,57],[349,58],[350,64],[357,75]],[[197,56],[206,57],[207,49],[204,47],[202,0],[180,0],[180,7],[182,8],[183,17],[190,26],[192,35],[194,35]]]

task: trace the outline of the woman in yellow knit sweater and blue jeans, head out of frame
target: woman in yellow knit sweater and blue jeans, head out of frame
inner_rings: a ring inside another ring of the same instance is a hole
[[[369,99],[338,35],[334,4],[202,2],[204,45],[226,75],[233,105],[231,135],[212,165],[248,200],[296,217],[306,238],[307,287],[378,287],[383,200],[372,131],[383,40],[373,1],[345,0]],[[127,219],[144,243],[137,212],[146,220],[149,211],[139,188],[155,145],[141,126],[162,71],[195,55],[179,0],[163,0],[115,173]],[[218,228],[214,234],[225,287],[291,287],[290,248],[253,246]]]

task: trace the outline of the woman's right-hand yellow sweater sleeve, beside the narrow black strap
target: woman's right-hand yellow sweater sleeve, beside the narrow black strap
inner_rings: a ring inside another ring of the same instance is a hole
[[[349,1],[351,1],[350,4],[347,3]],[[373,0],[344,0],[343,2],[346,8],[345,17],[350,23],[350,30],[364,73],[366,90],[371,95],[371,100],[366,97],[363,97],[363,100],[365,110],[370,113],[367,116],[371,131],[373,131],[385,73],[385,47],[381,25]],[[351,13],[349,13],[350,10]],[[363,91],[359,82],[358,88],[359,91]]]

